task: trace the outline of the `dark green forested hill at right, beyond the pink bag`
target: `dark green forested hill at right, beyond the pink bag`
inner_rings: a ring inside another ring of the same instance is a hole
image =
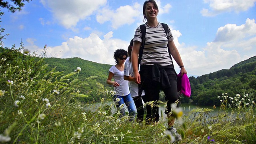
[[[202,76],[190,77],[191,99],[198,105],[218,105],[217,96],[256,92],[256,56],[235,64],[228,70],[219,70]],[[188,102],[188,98],[183,99]]]

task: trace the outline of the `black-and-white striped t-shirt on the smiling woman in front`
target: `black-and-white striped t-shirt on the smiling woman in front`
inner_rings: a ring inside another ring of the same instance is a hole
[[[168,27],[168,38],[164,27],[158,22],[158,26],[151,28],[148,24],[146,26],[146,36],[145,45],[142,54],[141,65],[153,65],[160,64],[161,66],[168,66],[172,64],[170,59],[168,47],[168,42],[174,40],[172,32]],[[140,27],[136,29],[134,35],[134,41],[142,42],[142,33]]]

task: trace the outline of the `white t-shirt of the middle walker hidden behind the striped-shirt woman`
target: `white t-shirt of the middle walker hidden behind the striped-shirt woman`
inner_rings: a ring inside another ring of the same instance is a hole
[[[132,62],[129,61],[130,57],[128,57],[124,63],[124,76],[132,76],[134,75],[133,73],[133,68],[132,68]],[[139,96],[138,95],[138,84],[134,81],[129,81],[129,88],[131,92],[131,96]],[[144,91],[142,92],[142,96],[145,95]]]

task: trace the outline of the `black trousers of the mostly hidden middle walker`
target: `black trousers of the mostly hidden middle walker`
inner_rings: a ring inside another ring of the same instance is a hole
[[[134,104],[137,108],[137,121],[142,122],[144,117],[144,108],[142,103],[142,96],[133,97]]]

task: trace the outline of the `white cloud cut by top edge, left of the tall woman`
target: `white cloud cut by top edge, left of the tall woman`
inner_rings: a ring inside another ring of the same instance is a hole
[[[89,18],[106,0],[41,0],[45,7],[50,8],[53,16],[65,28],[76,26],[79,20]]]

